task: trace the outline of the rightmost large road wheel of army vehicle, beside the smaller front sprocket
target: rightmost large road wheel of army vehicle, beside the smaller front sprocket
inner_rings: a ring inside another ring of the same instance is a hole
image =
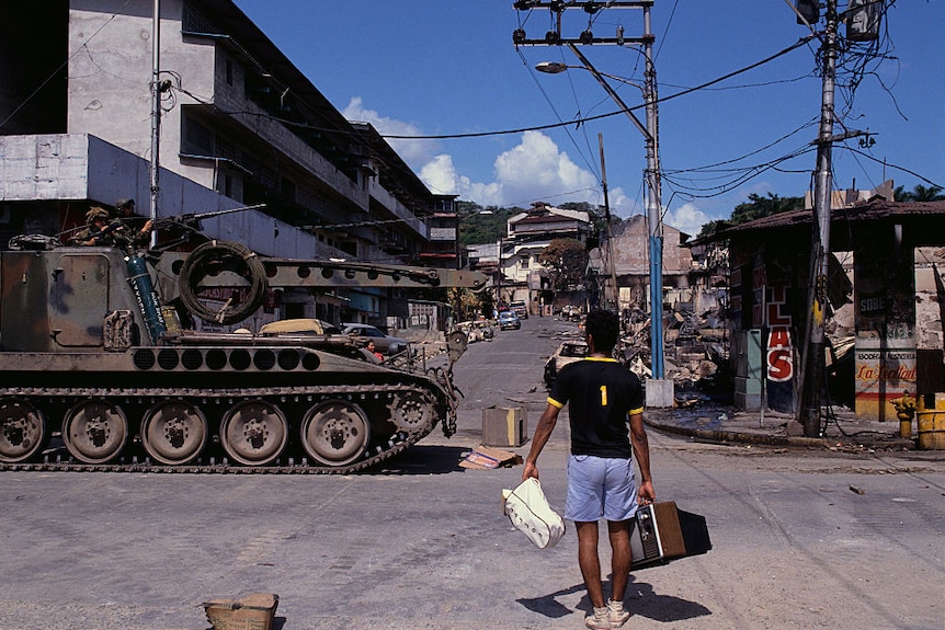
[[[343,400],[327,400],[305,414],[301,446],[326,466],[356,461],[371,442],[371,425],[364,411]]]

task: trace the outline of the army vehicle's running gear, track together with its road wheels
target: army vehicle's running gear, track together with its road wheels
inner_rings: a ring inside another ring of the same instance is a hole
[[[0,457],[0,470],[346,474],[394,457],[429,435],[439,415],[432,413],[431,394],[409,383],[0,388],[2,445],[48,444],[48,415],[64,416],[61,439],[69,444],[68,449],[47,449],[43,455],[37,449],[21,461]],[[391,433],[376,438],[371,433],[377,421],[363,409],[376,413],[382,406],[389,410]],[[447,411],[443,423],[447,435],[455,425],[452,413]],[[128,423],[135,415],[143,417],[137,436]],[[299,415],[300,423],[287,420]],[[219,420],[216,449],[207,446],[208,416]]]

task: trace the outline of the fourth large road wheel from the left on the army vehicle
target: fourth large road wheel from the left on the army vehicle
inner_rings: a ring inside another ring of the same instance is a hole
[[[220,442],[227,455],[244,466],[274,461],[288,439],[288,422],[273,404],[246,400],[227,411],[220,422]]]

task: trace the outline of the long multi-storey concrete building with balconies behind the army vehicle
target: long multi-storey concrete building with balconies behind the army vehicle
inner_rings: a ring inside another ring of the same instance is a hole
[[[430,193],[371,125],[344,119],[231,0],[160,7],[158,217],[265,204],[205,233],[284,257],[419,264],[437,249],[426,221],[453,197]],[[119,197],[148,214],[152,4],[8,2],[0,24],[0,247]],[[42,37],[24,27],[41,24]],[[285,295],[278,314],[384,327],[400,314],[386,290],[319,297]]]

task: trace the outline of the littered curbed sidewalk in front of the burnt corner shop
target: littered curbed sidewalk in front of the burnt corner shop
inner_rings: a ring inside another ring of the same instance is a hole
[[[912,438],[906,439],[899,436],[898,421],[859,420],[847,409],[824,412],[823,437],[805,437],[793,414],[771,410],[748,412],[726,405],[699,404],[692,408],[647,409],[644,419],[653,428],[687,435],[696,440],[824,448],[847,453],[916,449],[915,420],[912,422]],[[942,450],[918,453],[945,459],[945,451]]]

